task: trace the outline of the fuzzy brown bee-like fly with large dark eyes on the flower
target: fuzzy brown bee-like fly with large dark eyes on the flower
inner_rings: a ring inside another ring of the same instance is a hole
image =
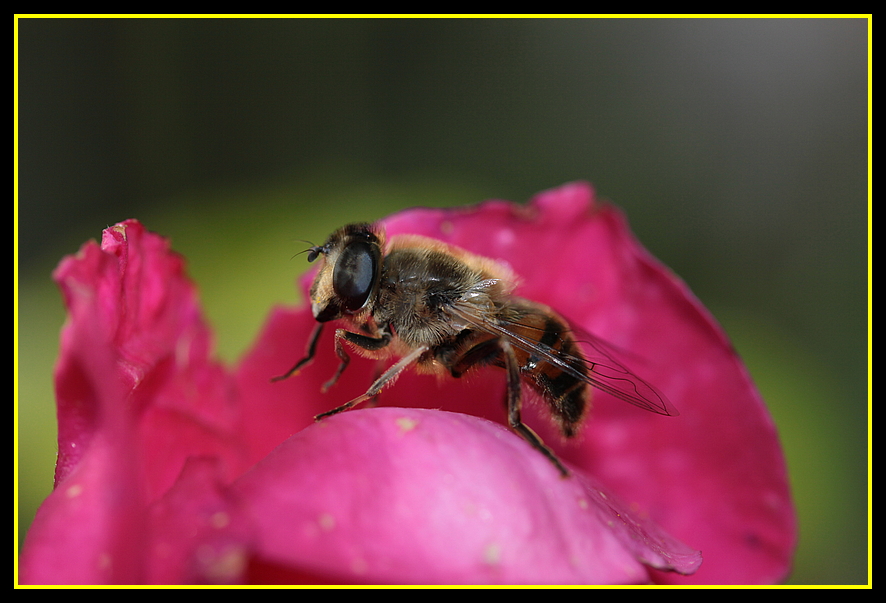
[[[310,262],[322,258],[310,289],[317,326],[305,357],[273,380],[311,362],[324,325],[335,320],[345,325],[335,331],[340,362],[324,391],[350,362],[345,342],[370,358],[397,358],[363,395],[317,420],[374,398],[413,366],[455,378],[482,366],[501,367],[511,429],[566,476],[565,466],[521,420],[522,383],[545,400],[566,437],[577,433],[591,387],[654,413],[678,414],[600,340],[585,334],[579,342],[554,310],[514,296],[517,278],[499,262],[417,235],[387,239],[381,227],[365,223],[344,226],[307,251]]]

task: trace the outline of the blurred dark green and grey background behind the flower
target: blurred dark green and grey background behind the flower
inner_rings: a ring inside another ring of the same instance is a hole
[[[866,19],[17,26],[20,540],[55,460],[50,272],[104,227],[172,239],[234,362],[296,302],[299,239],[586,179],[766,398],[799,509],[790,582],[869,582]]]

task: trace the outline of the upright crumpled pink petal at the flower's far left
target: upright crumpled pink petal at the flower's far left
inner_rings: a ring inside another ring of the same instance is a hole
[[[240,409],[209,362],[182,259],[128,221],[55,272],[69,319],[56,367],[55,490],[21,558],[24,583],[140,583],[147,505],[191,455],[245,469]]]

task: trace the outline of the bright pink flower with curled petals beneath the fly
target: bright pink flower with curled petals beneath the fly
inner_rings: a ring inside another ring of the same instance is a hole
[[[722,331],[615,209],[577,183],[525,207],[416,209],[384,223],[508,262],[520,295],[625,350],[680,416],[597,392],[581,438],[564,443],[543,409],[525,408],[569,479],[496,424],[496,369],[406,374],[379,407],[314,423],[362,393],[374,363],[355,358],[321,394],[337,363],[327,337],[311,366],[271,383],[303,352],[306,306],[275,310],[234,370],[213,362],[183,261],[124,222],[56,271],[69,310],[59,459],[21,582],[785,578],[796,522],[775,427]]]

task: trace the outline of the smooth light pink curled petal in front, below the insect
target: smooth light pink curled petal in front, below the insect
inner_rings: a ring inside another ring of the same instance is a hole
[[[262,557],[336,582],[648,581],[583,486],[493,423],[376,408],[305,429],[234,490]]]

